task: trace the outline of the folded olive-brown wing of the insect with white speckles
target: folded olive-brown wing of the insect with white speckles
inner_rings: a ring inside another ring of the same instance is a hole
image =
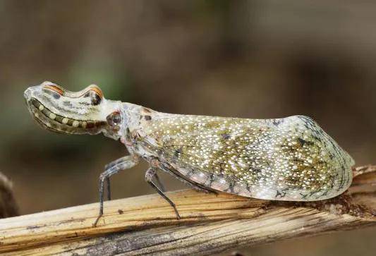
[[[312,119],[169,115],[145,143],[183,176],[216,190],[268,200],[321,200],[351,184],[353,160]]]

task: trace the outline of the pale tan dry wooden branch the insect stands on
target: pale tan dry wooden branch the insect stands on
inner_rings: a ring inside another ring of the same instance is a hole
[[[191,255],[376,226],[376,167],[354,170],[347,193],[317,202],[277,202],[193,190],[81,205],[0,220],[6,255]]]

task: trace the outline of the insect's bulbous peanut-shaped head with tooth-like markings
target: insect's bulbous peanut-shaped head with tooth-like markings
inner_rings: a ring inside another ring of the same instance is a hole
[[[30,114],[41,126],[56,133],[97,134],[107,126],[102,115],[102,91],[90,85],[69,92],[51,82],[29,87],[24,92]]]

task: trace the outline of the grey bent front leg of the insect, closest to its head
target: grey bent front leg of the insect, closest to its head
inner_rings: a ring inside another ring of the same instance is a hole
[[[138,157],[135,155],[130,155],[126,157],[122,157],[116,161],[112,161],[110,164],[107,164],[105,167],[106,171],[101,173],[99,176],[99,216],[95,220],[93,226],[97,226],[97,223],[103,215],[103,188],[104,188],[104,181],[107,181],[107,190],[109,190],[109,177],[118,173],[119,171],[130,169],[133,166],[138,164]],[[108,191],[110,195],[110,191]],[[111,196],[109,196],[111,198]]]

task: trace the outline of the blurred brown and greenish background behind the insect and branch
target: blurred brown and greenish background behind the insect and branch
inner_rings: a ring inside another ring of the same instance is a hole
[[[30,85],[96,83],[108,99],[179,114],[313,117],[357,165],[376,164],[372,1],[0,1],[0,171],[21,214],[97,202],[102,136],[32,120]],[[115,198],[154,193],[146,164],[111,178]],[[169,190],[183,183],[162,176]],[[374,255],[376,229],[287,240],[245,255]]]

